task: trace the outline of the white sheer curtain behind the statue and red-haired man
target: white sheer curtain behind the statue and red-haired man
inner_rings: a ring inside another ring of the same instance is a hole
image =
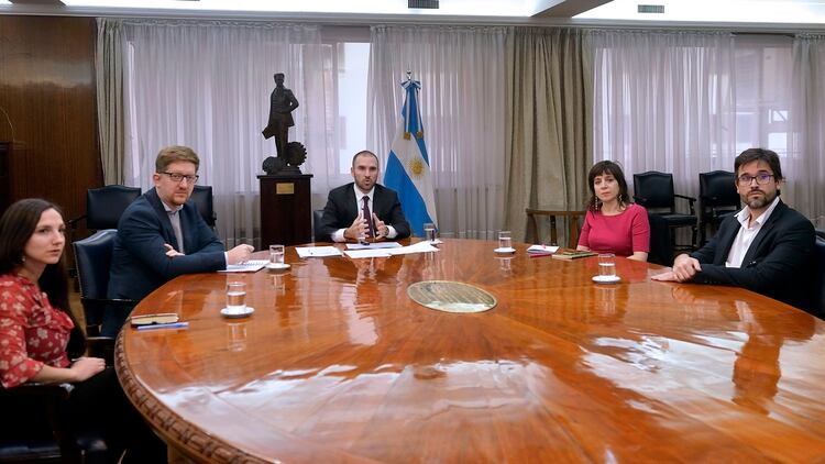
[[[158,150],[190,146],[201,159],[199,184],[213,188],[219,236],[228,246],[261,246],[256,175],[275,154],[261,135],[274,73],[286,74],[300,102],[289,140],[307,147],[302,170],[327,172],[326,132],[317,130],[327,126],[319,27],[174,20],[123,26],[125,183],[150,188]]]

